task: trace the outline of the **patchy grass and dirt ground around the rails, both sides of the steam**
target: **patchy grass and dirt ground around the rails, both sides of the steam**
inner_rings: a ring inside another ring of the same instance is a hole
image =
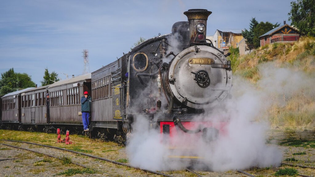
[[[34,136],[43,136],[39,139],[29,138]],[[38,132],[18,132],[12,130],[0,130],[0,139],[18,139],[30,142],[35,142],[39,144],[46,144],[51,146],[65,147],[65,145],[54,143],[54,135],[44,134]],[[279,148],[283,151],[283,163],[298,164],[304,166],[315,167],[315,132],[310,130],[297,130],[297,129],[272,129],[268,132],[269,139],[268,144],[278,144]],[[24,138],[24,139],[23,139]],[[45,139],[45,140],[43,140]],[[100,156],[104,158],[109,158],[116,161],[121,161],[122,163],[128,163],[127,155],[125,149],[122,146],[118,146],[113,142],[95,141],[89,140],[86,137],[78,136],[74,137],[77,142],[70,148],[74,151],[80,151],[84,153],[89,153],[95,156]],[[85,143],[80,143],[84,140]],[[54,155],[63,160],[58,160],[56,158],[50,158],[45,155],[41,155],[34,152],[29,152],[26,150],[20,150],[13,147],[8,147],[5,145],[0,145],[0,176],[11,177],[11,176],[130,176],[130,177],[140,177],[140,176],[159,176],[156,174],[150,174],[142,170],[133,169],[129,167],[119,166],[113,163],[104,162],[101,160],[85,157],[82,155],[76,155],[71,152],[63,152],[60,150],[55,150],[46,147],[38,147],[36,145],[21,144],[15,142],[0,141],[0,143],[11,144],[14,146],[20,146],[36,150],[39,152],[44,152],[46,154]],[[94,144],[94,145],[93,145]],[[92,145],[92,146],[91,146]],[[69,148],[68,148],[69,149]],[[67,161],[72,161],[76,163],[83,164],[90,167],[87,170],[83,167],[79,167],[73,164],[69,164]],[[310,168],[299,168],[299,167],[289,167],[283,166],[278,169],[283,168],[294,168],[299,171],[300,174],[314,176],[315,169]],[[274,176],[275,171],[270,168],[264,169],[248,169],[247,173],[253,174],[257,177],[269,177]],[[83,173],[74,174],[72,173]],[[196,176],[185,170],[181,171],[169,171],[165,172],[169,175],[184,177],[184,176]],[[238,173],[236,171],[226,171],[226,172],[204,172],[197,171],[198,174],[204,177],[243,177],[245,174]]]

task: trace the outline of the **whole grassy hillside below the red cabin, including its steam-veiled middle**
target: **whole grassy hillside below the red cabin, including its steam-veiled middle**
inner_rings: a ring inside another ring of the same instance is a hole
[[[314,38],[269,44],[244,56],[235,49],[231,53],[233,85],[242,78],[264,95],[266,110],[258,119],[267,119],[271,126],[314,128]]]

